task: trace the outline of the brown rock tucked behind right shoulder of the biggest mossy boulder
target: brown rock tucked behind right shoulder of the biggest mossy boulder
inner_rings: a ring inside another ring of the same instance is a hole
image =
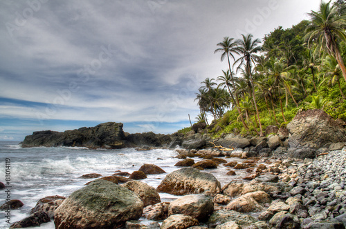
[[[154,205],[155,203],[160,203],[160,195],[155,188],[148,186],[147,183],[140,181],[129,181],[124,183],[122,187],[128,188],[134,192],[141,201],[143,201],[144,206]]]

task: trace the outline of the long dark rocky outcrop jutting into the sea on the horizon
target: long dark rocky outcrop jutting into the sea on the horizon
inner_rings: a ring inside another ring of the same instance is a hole
[[[170,135],[157,135],[153,132],[127,134],[122,130],[122,123],[101,123],[91,128],[56,132],[51,130],[33,132],[21,142],[24,148],[46,146],[78,146],[87,148],[127,148],[142,146],[164,146],[172,141]]]

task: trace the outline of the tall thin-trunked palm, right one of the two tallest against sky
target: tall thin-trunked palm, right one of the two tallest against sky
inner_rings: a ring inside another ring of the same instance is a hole
[[[253,83],[253,74],[251,70],[252,66],[255,65],[255,62],[258,59],[260,59],[260,57],[256,54],[262,50],[261,46],[258,46],[261,43],[261,41],[260,39],[253,40],[252,34],[248,34],[246,36],[242,34],[242,39],[237,39],[236,42],[237,48],[235,48],[235,52],[239,53],[240,57],[239,59],[237,59],[237,61],[235,61],[235,64],[239,63],[238,69],[244,64],[246,71],[250,74],[249,76],[251,80],[253,103],[255,104],[257,119],[260,123],[260,136],[263,136],[262,123],[255,99],[255,87]]]

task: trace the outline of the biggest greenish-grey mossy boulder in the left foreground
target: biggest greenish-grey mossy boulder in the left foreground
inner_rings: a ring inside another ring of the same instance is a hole
[[[71,194],[55,210],[55,228],[118,228],[142,216],[137,195],[102,179]]]

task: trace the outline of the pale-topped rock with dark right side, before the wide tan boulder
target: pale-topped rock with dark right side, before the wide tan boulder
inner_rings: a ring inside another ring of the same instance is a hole
[[[168,208],[168,215],[183,214],[194,217],[199,221],[206,221],[214,211],[212,198],[206,195],[185,195],[172,201]]]

